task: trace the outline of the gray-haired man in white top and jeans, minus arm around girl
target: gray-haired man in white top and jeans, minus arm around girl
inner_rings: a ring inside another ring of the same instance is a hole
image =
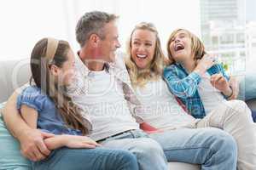
[[[139,129],[139,118],[124,105],[132,102],[124,94],[126,88],[131,91],[131,82],[123,77],[124,62],[115,58],[120,47],[117,18],[94,11],[79,20],[76,37],[81,50],[75,64],[76,78],[68,93],[90,117],[91,139],[104,147],[130,150],[137,156],[140,169],[167,169],[160,144]]]

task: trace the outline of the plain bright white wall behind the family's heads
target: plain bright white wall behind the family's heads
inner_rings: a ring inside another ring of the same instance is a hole
[[[1,0],[0,59],[29,57],[42,37],[65,39],[78,50],[75,25],[91,10],[119,14],[121,50],[141,21],[153,22],[158,28],[164,50],[166,39],[177,27],[200,35],[199,0]]]

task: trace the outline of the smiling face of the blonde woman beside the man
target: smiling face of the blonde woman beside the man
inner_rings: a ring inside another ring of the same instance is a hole
[[[154,59],[156,35],[153,31],[136,30],[131,36],[131,59],[138,69],[147,69]]]

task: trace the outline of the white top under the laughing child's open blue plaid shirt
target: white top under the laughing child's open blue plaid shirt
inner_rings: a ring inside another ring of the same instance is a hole
[[[201,97],[201,101],[204,105],[206,114],[218,108],[218,105],[222,102],[225,102],[223,94],[217,89],[214,88],[210,82],[211,76],[209,73],[205,73],[201,77],[201,82],[199,83],[198,93]]]

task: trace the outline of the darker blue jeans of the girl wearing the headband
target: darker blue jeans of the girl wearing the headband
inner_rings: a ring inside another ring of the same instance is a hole
[[[37,170],[138,170],[136,156],[126,150],[71,149],[53,150],[43,161],[32,163]]]

